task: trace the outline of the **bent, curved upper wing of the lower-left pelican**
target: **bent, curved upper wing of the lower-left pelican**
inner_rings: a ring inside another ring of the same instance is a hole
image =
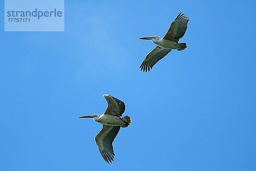
[[[104,94],[103,97],[108,103],[108,107],[106,108],[104,114],[121,117],[125,112],[125,103],[108,94]]]

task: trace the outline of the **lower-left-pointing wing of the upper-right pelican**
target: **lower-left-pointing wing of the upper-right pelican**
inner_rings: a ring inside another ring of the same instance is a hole
[[[142,64],[140,65],[140,71],[150,71],[153,68],[154,64],[156,64],[160,59],[165,57],[171,49],[169,48],[161,48],[160,46],[156,46],[146,55]]]

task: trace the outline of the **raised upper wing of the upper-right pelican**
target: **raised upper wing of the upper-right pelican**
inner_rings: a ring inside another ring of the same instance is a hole
[[[169,26],[168,31],[164,35],[163,39],[179,41],[184,36],[188,27],[189,17],[184,14],[178,14],[175,20]]]

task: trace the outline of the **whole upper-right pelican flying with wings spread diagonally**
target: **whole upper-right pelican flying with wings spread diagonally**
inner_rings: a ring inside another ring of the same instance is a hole
[[[151,40],[153,43],[157,44],[146,55],[142,64],[140,65],[140,71],[149,71],[153,68],[159,60],[165,57],[172,49],[177,49],[178,51],[184,50],[187,46],[186,43],[178,43],[180,38],[184,36],[186,29],[188,27],[189,17],[184,14],[178,14],[175,20],[170,24],[168,31],[163,38],[159,40],[159,36],[153,35],[151,37],[139,37],[138,39]]]

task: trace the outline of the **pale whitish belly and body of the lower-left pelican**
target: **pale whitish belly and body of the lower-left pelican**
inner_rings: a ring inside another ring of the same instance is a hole
[[[116,117],[110,114],[102,114],[99,118],[96,118],[95,121],[109,126],[119,126],[125,124],[120,117]]]

